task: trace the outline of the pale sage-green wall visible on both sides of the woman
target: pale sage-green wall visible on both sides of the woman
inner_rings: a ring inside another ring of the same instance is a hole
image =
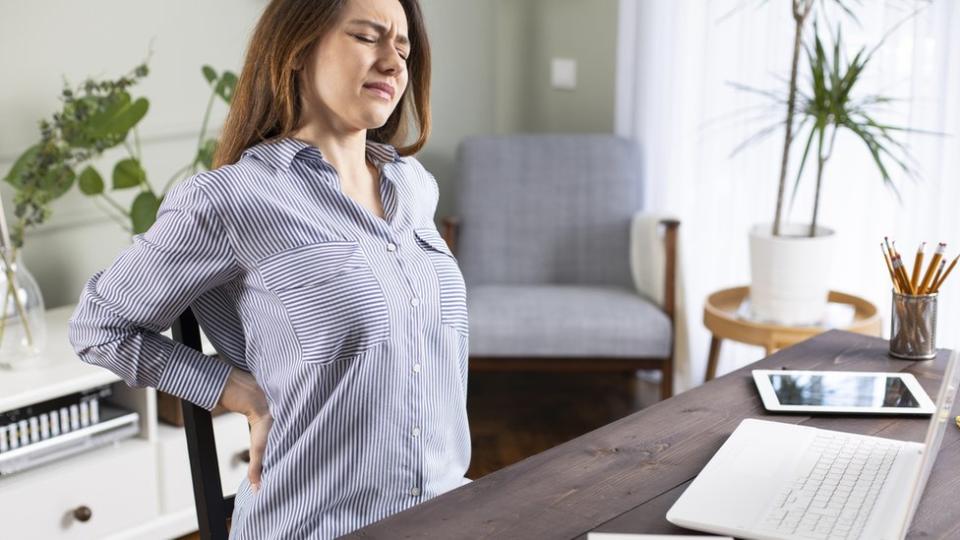
[[[421,0],[433,51],[433,132],[417,156],[440,183],[437,219],[453,213],[455,152],[463,137],[516,132],[612,131],[615,0]],[[189,162],[209,96],[200,66],[238,71],[266,0],[0,0],[0,176],[55,110],[62,77],[115,78],[150,57],[135,87],[150,99],[141,123],[144,165],[161,186]],[[549,87],[554,56],[578,60],[574,91]],[[215,108],[219,125],[225,107]],[[99,163],[107,177],[123,152]],[[7,215],[12,191],[0,185]],[[126,204],[128,200],[120,199]],[[28,232],[24,261],[48,307],[76,301],[91,274],[129,245],[98,199],[77,190]]]

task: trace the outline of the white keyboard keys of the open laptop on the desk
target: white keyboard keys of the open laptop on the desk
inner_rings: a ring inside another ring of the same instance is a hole
[[[777,494],[761,528],[796,538],[859,538],[899,449],[882,440],[817,434],[802,460],[815,465]]]

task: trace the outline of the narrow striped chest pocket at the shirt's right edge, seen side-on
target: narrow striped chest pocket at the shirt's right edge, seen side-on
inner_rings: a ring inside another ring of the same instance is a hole
[[[440,321],[467,335],[467,289],[457,259],[436,229],[423,227],[414,229],[413,232],[417,236],[417,244],[429,255],[437,273],[440,285]]]

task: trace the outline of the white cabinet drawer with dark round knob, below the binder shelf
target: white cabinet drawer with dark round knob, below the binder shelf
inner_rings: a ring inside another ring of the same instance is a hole
[[[0,536],[103,538],[155,519],[155,462],[152,444],[128,439],[0,478]]]

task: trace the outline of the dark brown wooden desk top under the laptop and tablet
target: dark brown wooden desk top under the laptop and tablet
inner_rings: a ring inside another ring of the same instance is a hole
[[[907,371],[936,397],[948,353],[909,362],[887,342],[841,331],[782,349],[752,366],[489,474],[356,531],[353,538],[585,538],[589,531],[683,533],[664,518],[744,418],[922,441],[927,418],[816,417],[764,411],[750,369]],[[953,414],[958,414],[960,401]],[[960,537],[960,429],[950,422],[911,538]]]

